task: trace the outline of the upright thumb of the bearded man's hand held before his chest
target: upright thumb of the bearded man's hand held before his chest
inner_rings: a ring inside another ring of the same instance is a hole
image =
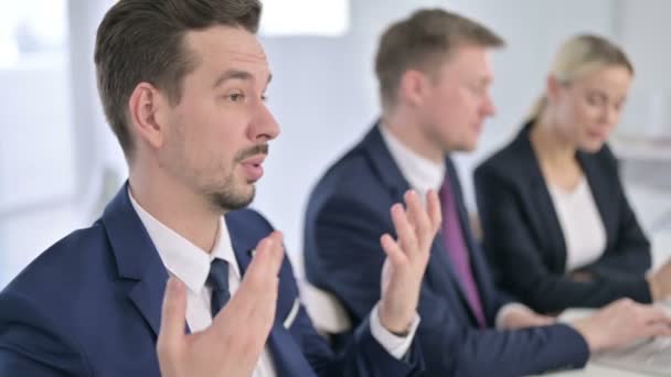
[[[184,284],[174,277],[170,277],[166,284],[161,328],[157,343],[159,354],[163,354],[181,345],[187,326],[187,292]]]

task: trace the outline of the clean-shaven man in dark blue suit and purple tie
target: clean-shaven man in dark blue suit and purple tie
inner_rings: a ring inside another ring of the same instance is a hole
[[[502,43],[443,10],[417,11],[391,25],[375,62],[381,120],[318,182],[306,214],[307,277],[360,323],[381,294],[384,252],[372,237],[393,231],[386,208],[408,188],[439,190],[444,224],[422,287],[417,333],[429,376],[576,368],[593,351],[669,332],[660,310],[630,301],[557,324],[509,302],[493,286],[449,154],[472,150],[493,114],[488,50]]]

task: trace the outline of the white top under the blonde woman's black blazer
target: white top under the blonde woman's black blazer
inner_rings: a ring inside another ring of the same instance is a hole
[[[606,249],[601,222],[587,179],[583,175],[573,191],[548,185],[566,244],[566,270],[572,271],[599,259]]]

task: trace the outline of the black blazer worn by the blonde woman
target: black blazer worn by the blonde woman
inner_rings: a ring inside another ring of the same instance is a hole
[[[540,312],[598,308],[622,297],[650,302],[645,279],[650,244],[625,197],[608,147],[577,153],[607,236],[604,255],[581,268],[595,279],[577,282],[565,273],[566,243],[530,129],[528,123],[475,172],[484,250],[500,287]]]

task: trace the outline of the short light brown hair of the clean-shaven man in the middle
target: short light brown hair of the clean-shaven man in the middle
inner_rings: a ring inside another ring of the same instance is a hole
[[[380,39],[375,74],[383,107],[393,106],[403,73],[432,73],[457,46],[499,47],[503,40],[483,25],[441,9],[425,9],[392,24]]]

